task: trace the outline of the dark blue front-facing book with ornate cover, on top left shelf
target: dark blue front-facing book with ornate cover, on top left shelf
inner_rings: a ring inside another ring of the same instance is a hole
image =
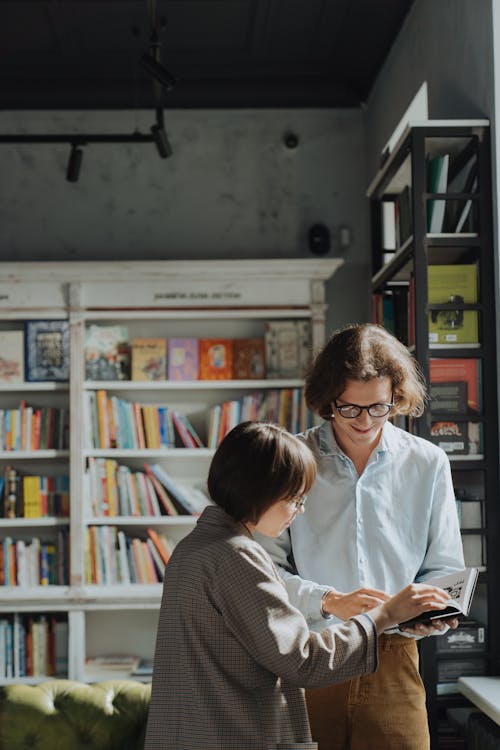
[[[67,320],[27,320],[24,324],[25,380],[69,379]]]

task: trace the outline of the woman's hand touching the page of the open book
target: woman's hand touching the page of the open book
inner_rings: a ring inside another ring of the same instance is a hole
[[[406,586],[388,601],[373,609],[370,616],[380,633],[428,610],[445,609],[449,601],[450,597],[446,591],[437,586],[430,586],[427,583],[410,583],[409,586]],[[440,630],[441,628],[436,625],[432,629]],[[408,632],[415,632],[415,635],[424,635],[421,630],[417,629]],[[427,633],[425,634],[427,635]]]

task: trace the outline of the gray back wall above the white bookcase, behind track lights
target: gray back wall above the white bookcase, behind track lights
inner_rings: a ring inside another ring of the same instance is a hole
[[[4,133],[149,131],[152,112],[4,112]],[[91,145],[78,183],[69,146],[0,146],[2,260],[311,258],[309,227],[346,224],[353,244],[329,285],[329,326],[366,316],[361,110],[167,111],[174,153]],[[290,150],[283,134],[293,131]],[[341,254],[335,238],[330,254]],[[359,279],[365,287],[360,293]]]

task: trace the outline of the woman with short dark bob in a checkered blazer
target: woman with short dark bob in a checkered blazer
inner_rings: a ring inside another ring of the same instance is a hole
[[[288,528],[315,478],[309,448],[276,425],[245,422],[222,441],[215,505],[165,570],[145,750],[312,750],[302,688],[374,671],[379,632],[444,606],[442,590],[411,586],[310,632],[253,534]]]

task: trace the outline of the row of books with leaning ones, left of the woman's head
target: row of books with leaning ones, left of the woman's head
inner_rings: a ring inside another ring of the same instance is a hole
[[[84,496],[93,517],[196,515],[209,502],[201,490],[174,480],[159,464],[132,471],[114,459],[94,457],[88,459]]]

